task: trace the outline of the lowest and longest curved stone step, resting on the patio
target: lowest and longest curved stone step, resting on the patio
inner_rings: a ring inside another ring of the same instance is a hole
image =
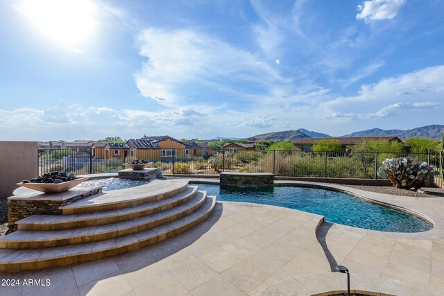
[[[175,236],[210,216],[216,197],[207,197],[194,213],[153,229],[105,241],[49,247],[40,250],[0,250],[0,272],[19,272],[83,263],[138,250]]]

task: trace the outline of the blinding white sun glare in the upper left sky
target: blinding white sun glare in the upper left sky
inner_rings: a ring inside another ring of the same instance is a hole
[[[86,0],[27,0],[17,8],[55,42],[77,47],[94,29],[94,5]]]

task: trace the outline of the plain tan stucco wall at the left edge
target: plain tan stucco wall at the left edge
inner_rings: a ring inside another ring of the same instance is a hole
[[[37,142],[0,141],[0,198],[8,198],[15,183],[37,176]]]

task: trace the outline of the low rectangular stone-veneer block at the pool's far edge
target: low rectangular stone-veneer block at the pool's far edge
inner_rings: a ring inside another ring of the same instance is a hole
[[[221,173],[221,185],[273,185],[274,176],[271,173]]]

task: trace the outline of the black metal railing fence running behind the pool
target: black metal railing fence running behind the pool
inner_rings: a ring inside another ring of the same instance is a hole
[[[386,158],[418,157],[439,168],[438,151],[429,153],[328,152],[312,153],[296,150],[223,150],[203,156],[190,155],[189,150],[173,149],[171,153],[151,153],[152,167],[164,174],[218,174],[223,171],[274,173],[296,177],[341,177],[377,179],[377,170]],[[117,155],[116,155],[117,153]],[[142,155],[142,152],[140,152]],[[146,153],[144,155],[147,155]],[[107,152],[105,148],[40,149],[38,172],[73,172],[77,175],[111,173],[137,158],[137,151]],[[440,180],[438,180],[440,182]],[[442,182],[442,180],[441,180]]]

